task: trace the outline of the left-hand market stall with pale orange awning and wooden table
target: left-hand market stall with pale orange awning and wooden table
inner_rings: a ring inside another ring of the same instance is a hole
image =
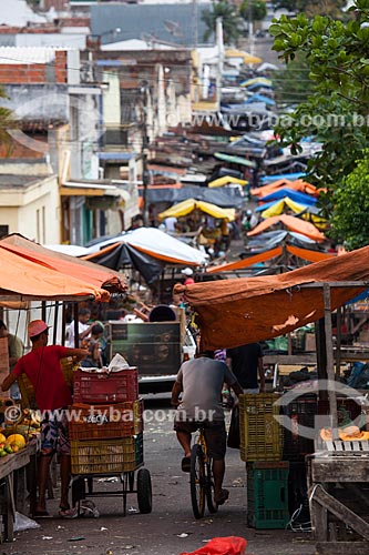
[[[0,261],[1,306],[28,310],[31,301],[41,301],[43,319],[49,320],[54,312],[54,341],[59,301],[109,301],[110,291],[126,290],[117,272],[53,253],[17,234],[0,241]],[[35,434],[28,443],[17,446],[13,453],[11,450],[9,454],[0,453],[1,515],[6,541],[13,539],[16,509],[25,508],[27,492],[30,513],[34,512],[39,446],[40,437]]]

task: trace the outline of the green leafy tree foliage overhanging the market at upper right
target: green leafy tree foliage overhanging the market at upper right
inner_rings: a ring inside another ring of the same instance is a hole
[[[362,24],[368,22],[369,0],[357,0],[355,17],[346,24],[322,16],[308,19],[298,14],[294,19],[283,16],[269,28],[275,37],[273,48],[287,64],[297,54],[305,56],[308,63],[311,94],[293,114],[279,120],[275,133],[293,153],[300,151],[305,137],[322,142],[322,151],[309,161],[308,170],[310,179],[328,190],[322,203],[326,215],[335,222],[332,234],[345,210],[342,203],[338,215],[337,199],[345,195],[347,176],[369,148],[369,27]],[[351,211],[349,206],[352,203],[346,204],[347,211]],[[362,236],[362,223],[351,213],[350,238]]]

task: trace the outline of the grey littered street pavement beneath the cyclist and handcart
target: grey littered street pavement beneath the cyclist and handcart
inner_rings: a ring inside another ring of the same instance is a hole
[[[255,555],[314,554],[308,533],[246,527],[245,463],[235,450],[227,453],[225,487],[230,490],[229,501],[216,515],[207,514],[196,522],[191,508],[188,475],[180,470],[182,452],[172,431],[168,401],[146,401],[145,406],[150,422],[144,433],[144,460],[153,482],[152,514],[137,513],[135,494],[127,496],[125,517],[121,496],[99,498],[95,500],[99,518],[40,521],[41,528],[18,533],[11,545],[1,545],[1,554],[180,555],[197,549],[213,537],[229,535],[246,537],[247,553]],[[116,490],[119,484],[100,486]],[[58,514],[58,500],[49,501],[48,508]]]

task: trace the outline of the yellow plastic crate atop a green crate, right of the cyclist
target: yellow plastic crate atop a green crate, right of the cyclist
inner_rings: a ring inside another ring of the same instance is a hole
[[[239,434],[242,461],[280,461],[283,427],[275,416],[277,396],[270,393],[239,396]]]

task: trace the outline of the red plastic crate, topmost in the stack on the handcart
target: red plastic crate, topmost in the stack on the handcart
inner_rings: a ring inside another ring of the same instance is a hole
[[[82,370],[73,374],[74,403],[124,403],[137,398],[139,375],[135,366],[111,374]]]

